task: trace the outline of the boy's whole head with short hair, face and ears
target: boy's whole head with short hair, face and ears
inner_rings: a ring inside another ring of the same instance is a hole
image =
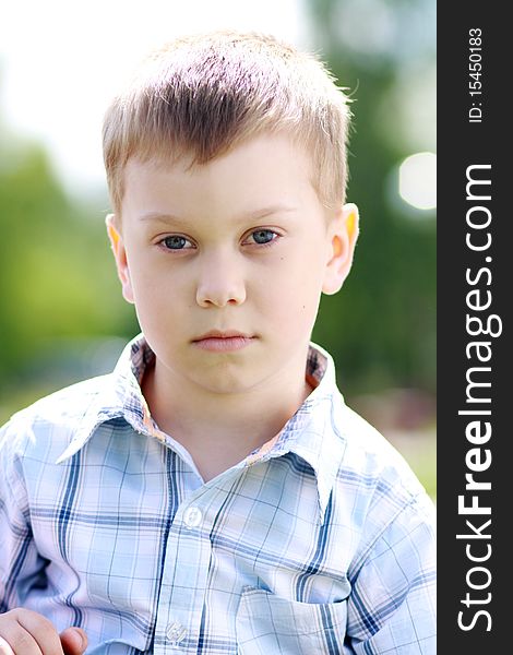
[[[180,39],[116,99],[108,229],[159,379],[216,393],[300,381],[358,231],[346,129],[320,64],[253,35]]]

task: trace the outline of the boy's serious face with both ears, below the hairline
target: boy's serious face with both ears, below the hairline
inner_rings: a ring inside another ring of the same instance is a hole
[[[169,380],[279,390],[305,374],[321,291],[349,272],[356,207],[323,207],[285,135],[189,164],[127,165],[122,217],[108,221],[124,298]]]

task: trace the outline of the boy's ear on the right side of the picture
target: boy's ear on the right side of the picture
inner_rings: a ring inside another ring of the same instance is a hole
[[[347,203],[331,218],[329,226],[330,251],[322,290],[336,294],[349,274],[358,238],[358,207]]]

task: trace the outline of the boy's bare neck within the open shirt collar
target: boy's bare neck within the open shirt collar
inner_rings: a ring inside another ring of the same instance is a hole
[[[239,393],[213,393],[177,379],[158,360],[143,380],[153,418],[187,448],[204,479],[240,462],[277,434],[311,392],[306,358]]]

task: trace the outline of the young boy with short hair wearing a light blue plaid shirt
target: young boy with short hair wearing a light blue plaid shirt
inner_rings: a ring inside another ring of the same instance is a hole
[[[432,503],[310,343],[358,234],[347,123],[321,63],[235,33],[112,103],[142,335],[2,430],[0,653],[434,653]]]

